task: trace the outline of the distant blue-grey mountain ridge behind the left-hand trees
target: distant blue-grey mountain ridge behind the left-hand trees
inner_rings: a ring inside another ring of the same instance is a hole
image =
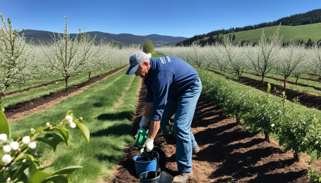
[[[50,35],[53,35],[53,32],[50,32],[50,31],[32,30],[32,29],[25,29],[23,33],[24,33],[24,36],[26,37],[27,42],[29,42],[32,39],[36,44],[38,44],[39,41],[42,43],[51,42],[52,37]],[[149,39],[152,41],[152,43],[155,46],[162,46],[162,45],[165,46],[165,45],[172,45],[187,39],[187,37],[162,36],[158,34],[137,36],[137,35],[125,34],[125,33],[111,34],[111,33],[105,33],[100,31],[91,31],[86,33],[90,34],[92,37],[96,35],[96,40],[100,40],[101,38],[106,38],[108,42],[114,42],[115,44],[124,44],[124,45],[141,44],[146,39]],[[22,31],[20,31],[19,34],[22,34]],[[54,34],[58,35],[58,33],[56,32],[54,32]],[[74,36],[74,35],[75,34],[70,34],[70,36]]]

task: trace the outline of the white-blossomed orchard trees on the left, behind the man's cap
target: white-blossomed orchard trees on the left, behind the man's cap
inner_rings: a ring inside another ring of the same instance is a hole
[[[140,50],[139,46],[122,47],[112,45],[104,39],[78,33],[71,37],[67,18],[63,34],[53,34],[50,44],[36,46],[26,43],[18,29],[12,29],[8,18],[0,14],[0,99],[13,84],[25,84],[31,79],[59,76],[65,79],[66,90],[71,76],[97,69],[116,69],[128,63],[130,54]]]

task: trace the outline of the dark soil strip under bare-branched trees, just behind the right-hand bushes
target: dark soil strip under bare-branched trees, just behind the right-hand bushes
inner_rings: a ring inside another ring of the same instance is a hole
[[[210,70],[210,71],[217,73],[217,74],[221,74],[220,72],[217,72],[217,71],[213,71],[213,70]],[[242,81],[242,84],[244,84],[244,85],[254,87],[256,89],[266,92],[267,82],[262,84],[261,80],[252,79],[252,78],[248,78],[248,77],[244,77],[244,76],[241,77],[241,81]],[[312,93],[305,93],[305,92],[294,90],[294,89],[291,89],[288,87],[284,90],[283,86],[281,86],[281,85],[276,85],[273,83],[270,83],[270,84],[271,84],[272,89],[275,87],[277,90],[285,91],[285,95],[288,100],[292,100],[295,97],[299,97],[299,103],[301,105],[304,105],[309,108],[316,108],[317,110],[321,110],[321,96],[320,95],[312,94]],[[279,94],[276,92],[271,92],[271,94],[273,94],[275,96],[279,96]]]

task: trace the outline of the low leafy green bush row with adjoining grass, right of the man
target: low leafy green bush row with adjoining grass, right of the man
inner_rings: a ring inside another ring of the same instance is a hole
[[[280,145],[295,154],[308,152],[320,156],[320,111],[286,101],[282,93],[277,97],[209,71],[198,72],[203,83],[202,92],[227,115],[242,121],[244,129],[275,134]]]

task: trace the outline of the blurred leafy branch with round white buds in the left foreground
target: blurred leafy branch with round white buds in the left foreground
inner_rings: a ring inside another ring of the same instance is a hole
[[[69,166],[54,173],[48,173],[44,171],[43,167],[40,167],[38,160],[29,153],[36,148],[39,142],[48,144],[54,151],[61,142],[68,146],[69,130],[65,128],[66,126],[71,129],[78,127],[85,140],[89,142],[89,129],[80,122],[81,120],[82,117],[74,120],[73,112],[68,111],[65,118],[56,126],[47,122],[46,127],[32,128],[28,136],[13,140],[10,136],[8,121],[4,113],[0,111],[0,148],[2,149],[2,151],[0,150],[0,182],[68,182],[66,175],[82,168],[81,166]]]

